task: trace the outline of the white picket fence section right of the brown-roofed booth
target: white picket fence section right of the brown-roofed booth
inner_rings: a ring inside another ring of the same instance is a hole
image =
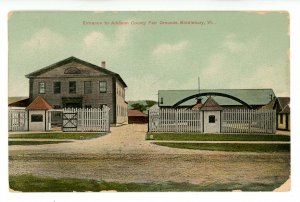
[[[275,110],[226,109],[221,113],[222,133],[275,133]]]

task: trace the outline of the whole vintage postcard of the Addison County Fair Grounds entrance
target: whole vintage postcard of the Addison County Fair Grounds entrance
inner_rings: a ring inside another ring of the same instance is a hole
[[[290,190],[286,11],[11,11],[11,192]]]

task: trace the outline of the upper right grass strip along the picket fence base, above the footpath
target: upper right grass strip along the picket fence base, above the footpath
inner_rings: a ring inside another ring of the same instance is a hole
[[[290,136],[270,134],[193,134],[193,133],[147,133],[146,140],[177,141],[290,141]]]

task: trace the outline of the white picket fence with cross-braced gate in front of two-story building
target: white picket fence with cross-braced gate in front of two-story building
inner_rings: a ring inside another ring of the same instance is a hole
[[[109,108],[63,109],[63,131],[109,131]]]

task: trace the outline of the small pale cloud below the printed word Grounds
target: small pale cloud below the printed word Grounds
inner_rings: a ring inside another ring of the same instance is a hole
[[[188,46],[188,41],[181,41],[176,44],[160,44],[154,48],[152,54],[155,56],[168,55],[184,51]]]

